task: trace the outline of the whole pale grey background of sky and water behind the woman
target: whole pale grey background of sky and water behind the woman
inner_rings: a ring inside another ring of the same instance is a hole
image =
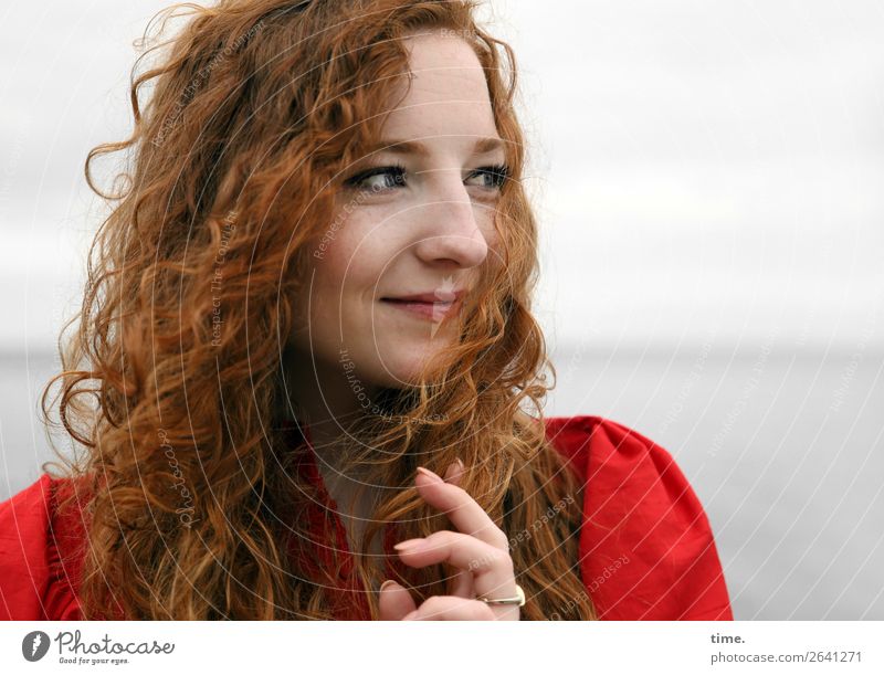
[[[48,457],[36,395],[165,3],[0,19],[0,498]],[[884,4],[493,0],[523,71],[550,414],[676,457],[738,619],[884,619]]]

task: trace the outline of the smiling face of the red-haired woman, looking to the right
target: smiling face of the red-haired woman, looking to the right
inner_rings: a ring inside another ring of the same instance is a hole
[[[411,88],[382,129],[381,146],[396,147],[343,169],[298,298],[302,377],[337,371],[354,391],[413,383],[456,339],[456,298],[496,259],[505,156],[478,59],[442,33],[407,43]],[[422,302],[401,299],[414,295]]]

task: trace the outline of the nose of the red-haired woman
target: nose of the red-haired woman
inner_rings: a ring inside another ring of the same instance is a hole
[[[488,242],[480,223],[487,221],[493,226],[493,209],[474,204],[460,179],[455,180],[457,187],[438,192],[432,201],[415,210],[424,226],[415,228],[419,238],[414,250],[418,257],[431,265],[453,262],[460,267],[475,267],[488,254]],[[478,219],[477,209],[482,210]]]

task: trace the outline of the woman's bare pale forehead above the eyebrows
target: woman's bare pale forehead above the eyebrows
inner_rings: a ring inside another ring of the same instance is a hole
[[[396,138],[496,136],[485,74],[473,49],[456,36],[417,34],[406,40],[411,86],[383,135]],[[401,98],[401,102],[400,102]]]

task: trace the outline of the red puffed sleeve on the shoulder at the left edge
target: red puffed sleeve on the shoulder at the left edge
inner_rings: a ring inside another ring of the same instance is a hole
[[[0,503],[0,619],[78,619],[84,529],[78,504],[60,508],[70,478],[42,474]]]

